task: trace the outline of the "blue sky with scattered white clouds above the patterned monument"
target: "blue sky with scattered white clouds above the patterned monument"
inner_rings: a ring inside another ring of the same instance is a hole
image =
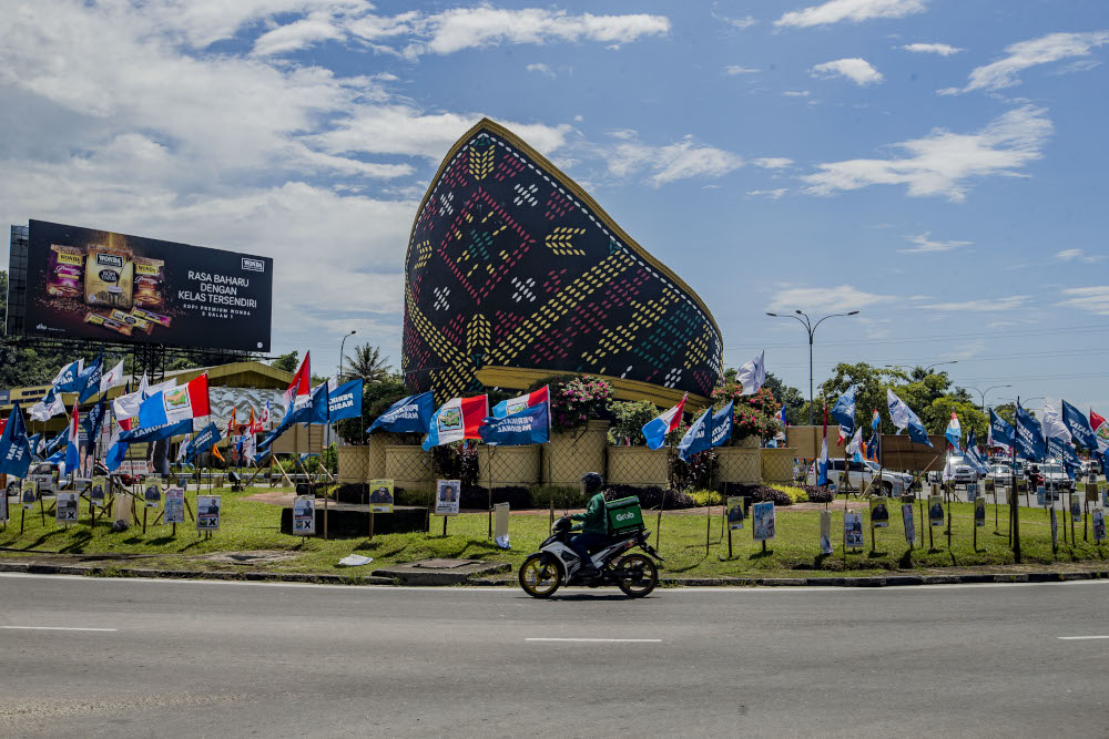
[[[317,371],[350,329],[399,362],[416,206],[488,115],[704,298],[726,365],[804,389],[765,311],[857,309],[817,383],[955,359],[1109,411],[1099,0],[12,6],[3,218],[271,255],[274,350]]]

